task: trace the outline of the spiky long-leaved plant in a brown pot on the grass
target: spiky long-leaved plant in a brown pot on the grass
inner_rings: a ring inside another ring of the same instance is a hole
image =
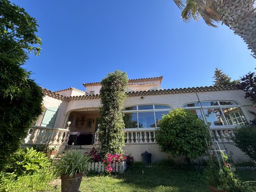
[[[61,177],[62,192],[78,192],[91,156],[72,150],[54,163],[54,177]]]

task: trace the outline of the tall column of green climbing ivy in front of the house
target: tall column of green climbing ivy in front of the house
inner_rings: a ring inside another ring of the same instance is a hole
[[[99,142],[101,152],[104,154],[121,153],[125,144],[125,123],[122,110],[126,99],[125,90],[127,86],[127,74],[120,70],[109,73],[101,81]]]

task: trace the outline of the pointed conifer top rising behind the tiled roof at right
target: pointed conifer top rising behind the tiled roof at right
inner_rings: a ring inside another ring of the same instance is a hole
[[[239,83],[238,80],[231,81],[231,77],[226,75],[221,69],[216,68],[214,71],[214,85],[232,85]]]

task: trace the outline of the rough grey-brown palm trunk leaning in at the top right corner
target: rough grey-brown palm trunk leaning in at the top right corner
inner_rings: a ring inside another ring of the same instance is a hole
[[[216,0],[221,21],[243,38],[256,58],[255,0]]]

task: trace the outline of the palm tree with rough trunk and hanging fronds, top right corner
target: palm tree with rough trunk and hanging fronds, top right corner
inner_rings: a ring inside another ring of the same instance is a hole
[[[184,21],[202,17],[205,23],[217,27],[222,22],[242,37],[256,58],[256,4],[255,0],[174,0],[182,9]]]

